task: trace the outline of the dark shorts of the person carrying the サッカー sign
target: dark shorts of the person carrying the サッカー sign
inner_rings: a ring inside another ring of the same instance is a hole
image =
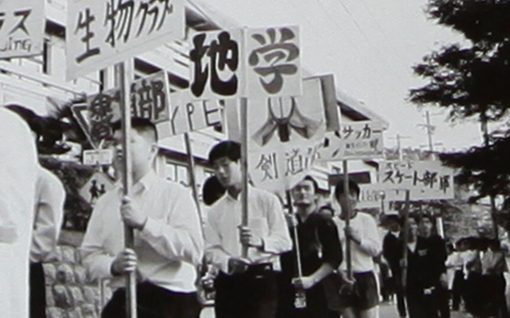
[[[345,297],[345,307],[364,310],[376,306],[379,303],[379,295],[374,272],[354,273],[353,276],[355,282],[352,293],[342,296]]]

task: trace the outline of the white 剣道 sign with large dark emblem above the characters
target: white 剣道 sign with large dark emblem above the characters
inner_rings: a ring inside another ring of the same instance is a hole
[[[299,97],[248,100],[248,170],[256,186],[290,189],[319,159],[327,106],[319,77],[302,85]]]

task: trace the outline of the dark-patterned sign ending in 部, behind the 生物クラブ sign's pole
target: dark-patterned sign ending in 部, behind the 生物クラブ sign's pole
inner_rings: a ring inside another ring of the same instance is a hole
[[[169,121],[170,91],[164,71],[131,82],[129,90],[132,117],[148,119],[155,125]],[[87,96],[86,103],[74,105],[72,111],[92,147],[99,149],[101,141],[112,136],[111,123],[120,120],[120,91]]]

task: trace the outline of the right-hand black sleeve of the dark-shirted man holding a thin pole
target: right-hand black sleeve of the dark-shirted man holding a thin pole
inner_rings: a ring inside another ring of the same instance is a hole
[[[342,263],[342,245],[338,238],[337,225],[333,220],[321,217],[317,226],[317,236],[322,246],[322,260],[333,268]]]

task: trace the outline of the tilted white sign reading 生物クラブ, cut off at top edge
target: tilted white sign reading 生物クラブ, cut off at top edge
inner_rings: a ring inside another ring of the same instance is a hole
[[[69,0],[67,80],[184,38],[183,0]]]

